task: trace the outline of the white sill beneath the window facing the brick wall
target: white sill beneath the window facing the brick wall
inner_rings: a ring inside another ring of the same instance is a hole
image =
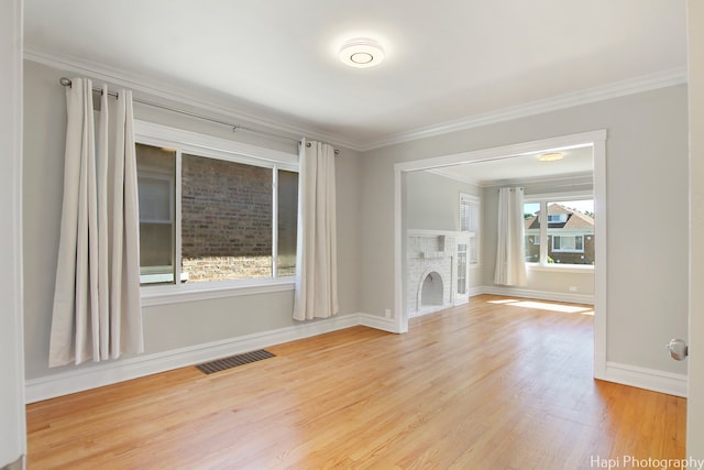
[[[210,300],[241,295],[271,294],[294,291],[293,277],[279,280],[252,280],[245,283],[202,283],[183,285],[143,286],[140,288],[143,307],[180,304],[183,302]]]

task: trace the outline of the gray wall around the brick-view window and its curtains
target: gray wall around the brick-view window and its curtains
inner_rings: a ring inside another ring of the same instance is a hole
[[[44,65],[25,62],[24,77],[24,280],[25,371],[37,379],[73,367],[48,369],[48,336],[58,248],[66,129],[62,76]],[[152,98],[152,100],[154,100]],[[150,120],[211,135],[295,152],[295,144],[233,134],[227,127],[209,124],[167,111],[135,106],[136,119]],[[342,149],[337,157],[338,250],[340,315],[358,313],[359,270],[359,160]],[[294,325],[293,291],[204,302],[144,307],[147,353],[168,351],[242,335]],[[96,368],[94,364],[81,365]],[[98,365],[99,367],[99,365]]]

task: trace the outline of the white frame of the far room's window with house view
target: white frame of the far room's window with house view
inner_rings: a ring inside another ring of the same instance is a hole
[[[561,264],[561,263],[548,263],[548,247],[553,247],[553,241],[548,243],[548,204],[556,200],[586,200],[594,199],[593,192],[568,192],[568,193],[550,193],[550,194],[537,194],[526,195],[524,204],[536,203],[540,205],[540,232],[539,232],[539,245],[540,245],[540,260],[537,263],[526,261],[526,267],[531,271],[559,271],[559,272],[594,272],[593,264]],[[553,222],[554,223],[554,222]],[[596,234],[596,228],[594,230]],[[524,237],[525,238],[525,237]],[[524,241],[525,243],[525,241]],[[584,248],[584,238],[582,239],[582,248]],[[583,253],[582,251],[561,251],[563,253]]]

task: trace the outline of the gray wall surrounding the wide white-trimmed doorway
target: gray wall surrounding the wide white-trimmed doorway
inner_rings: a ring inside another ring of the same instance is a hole
[[[675,86],[367,152],[363,311],[394,305],[395,163],[607,129],[607,360],[684,373],[663,345],[688,331],[686,99]]]

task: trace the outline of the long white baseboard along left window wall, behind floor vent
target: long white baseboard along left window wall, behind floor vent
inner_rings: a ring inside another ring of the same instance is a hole
[[[127,358],[117,362],[88,365],[40,379],[31,379],[25,382],[26,403],[82,392],[359,325],[396,332],[394,319],[367,314],[343,315],[309,324],[245,335],[173,351]]]

